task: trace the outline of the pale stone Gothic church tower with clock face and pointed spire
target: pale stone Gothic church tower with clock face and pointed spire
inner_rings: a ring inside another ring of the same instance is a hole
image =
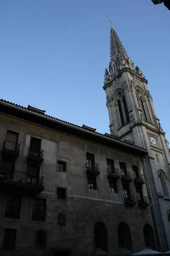
[[[111,61],[103,89],[111,135],[147,148],[142,162],[159,250],[170,249],[170,149],[139,67],[134,67],[111,26]]]

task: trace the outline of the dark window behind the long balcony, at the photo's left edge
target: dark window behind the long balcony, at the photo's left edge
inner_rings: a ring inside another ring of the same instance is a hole
[[[12,179],[15,162],[8,159],[2,159],[0,168],[0,178]]]

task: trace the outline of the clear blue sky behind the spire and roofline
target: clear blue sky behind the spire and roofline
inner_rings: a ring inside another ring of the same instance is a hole
[[[170,11],[151,0],[0,1],[0,98],[109,133],[108,19],[170,141]]]

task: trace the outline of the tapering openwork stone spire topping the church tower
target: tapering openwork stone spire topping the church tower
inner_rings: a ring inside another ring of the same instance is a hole
[[[109,71],[111,76],[116,73],[117,70],[121,70],[123,67],[128,67],[130,70],[134,70],[133,62],[127,56],[125,48],[123,47],[118,35],[111,26],[111,62],[109,64]]]

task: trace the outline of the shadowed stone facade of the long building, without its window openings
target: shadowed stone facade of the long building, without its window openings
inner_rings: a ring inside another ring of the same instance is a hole
[[[145,248],[144,224],[150,224],[154,230],[151,207],[140,208],[138,204],[133,207],[125,205],[120,178],[117,180],[117,193],[110,192],[107,158],[114,160],[115,168],[119,172],[119,161],[121,161],[126,163],[127,171],[132,177],[132,165],[137,166],[139,173],[143,175],[141,160],[147,154],[146,150],[136,147],[133,143],[122,143],[111,135],[98,134],[94,129],[62,122],[46,116],[39,110],[36,112],[34,108],[23,108],[1,100],[0,110],[1,163],[4,157],[2,152],[6,133],[9,130],[16,132],[19,134],[17,143],[20,143],[20,154],[15,161],[14,171],[27,173],[28,148],[31,137],[35,137],[41,140],[43,162],[40,164],[40,176],[44,177],[44,190],[37,194],[25,194],[20,189],[18,192],[17,186],[20,185],[20,181],[15,183],[16,186],[12,190],[0,189],[0,254],[3,256],[108,254],[111,256],[127,255]],[[87,152],[93,154],[95,163],[99,164],[100,174],[96,177],[96,190],[88,188]],[[57,161],[66,163],[65,172],[58,171]],[[1,172],[2,170],[0,174]],[[3,178],[4,176],[0,175],[0,186]],[[11,177],[10,181],[8,179],[5,181],[12,182]],[[136,198],[134,179],[129,186],[130,193]],[[66,188],[65,199],[58,198],[58,187]],[[148,197],[146,185],[143,184],[141,187],[143,195]],[[7,195],[15,192],[22,196],[20,218],[5,218]],[[32,220],[34,198],[46,199],[45,221]],[[63,219],[62,214],[65,216]],[[118,225],[122,221],[130,229],[131,250],[119,246],[117,232]],[[103,223],[107,231],[106,251],[95,247],[94,226],[97,222]],[[15,250],[3,250],[6,229],[17,230]],[[46,232],[43,247],[36,246],[38,230]],[[155,234],[153,236],[156,244]],[[56,252],[53,254],[53,251]]]

